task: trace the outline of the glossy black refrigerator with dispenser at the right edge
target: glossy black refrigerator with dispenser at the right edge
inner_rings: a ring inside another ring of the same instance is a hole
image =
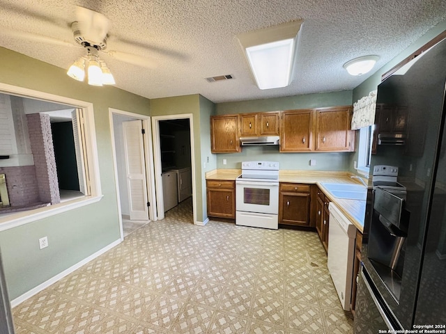
[[[355,333],[445,333],[445,83],[443,40],[378,86]],[[373,184],[378,165],[403,192]]]

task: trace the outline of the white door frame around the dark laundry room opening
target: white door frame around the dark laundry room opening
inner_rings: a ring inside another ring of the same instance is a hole
[[[155,156],[155,185],[158,218],[164,218],[164,200],[162,197],[162,166],[161,166],[161,143],[160,143],[160,120],[189,120],[190,127],[190,164],[192,170],[192,211],[194,214],[194,224],[197,225],[197,191],[195,189],[195,152],[194,152],[194,119],[192,113],[180,113],[178,115],[153,116],[153,155]]]

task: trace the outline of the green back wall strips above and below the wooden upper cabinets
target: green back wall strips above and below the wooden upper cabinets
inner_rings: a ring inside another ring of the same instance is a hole
[[[252,113],[257,111],[276,111],[307,109],[324,106],[346,106],[352,104],[351,90],[276,97],[268,100],[224,102],[216,105],[217,115],[229,113]],[[279,153],[278,146],[251,146],[242,148],[240,153],[213,154],[217,168],[241,168],[242,161],[279,161],[281,169],[289,170],[346,170],[351,152],[332,153]],[[223,164],[226,159],[226,165]],[[310,166],[310,159],[316,166]]]

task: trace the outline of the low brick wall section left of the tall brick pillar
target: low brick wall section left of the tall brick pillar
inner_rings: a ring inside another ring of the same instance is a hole
[[[40,202],[34,166],[1,167],[6,176],[9,202],[12,207]]]

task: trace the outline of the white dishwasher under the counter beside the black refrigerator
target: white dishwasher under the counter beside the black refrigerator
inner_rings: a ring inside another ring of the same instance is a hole
[[[344,310],[350,310],[356,228],[339,208],[330,202],[328,227],[328,270]]]

